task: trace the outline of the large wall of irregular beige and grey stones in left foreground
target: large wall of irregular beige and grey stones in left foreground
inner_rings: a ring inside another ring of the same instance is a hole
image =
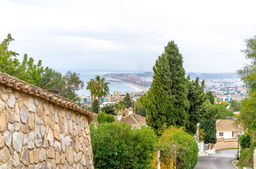
[[[88,116],[0,84],[1,168],[93,168]]]

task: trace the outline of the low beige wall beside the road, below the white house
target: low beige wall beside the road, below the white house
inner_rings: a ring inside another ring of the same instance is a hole
[[[215,143],[215,150],[232,149],[238,147],[238,138],[218,138]]]

